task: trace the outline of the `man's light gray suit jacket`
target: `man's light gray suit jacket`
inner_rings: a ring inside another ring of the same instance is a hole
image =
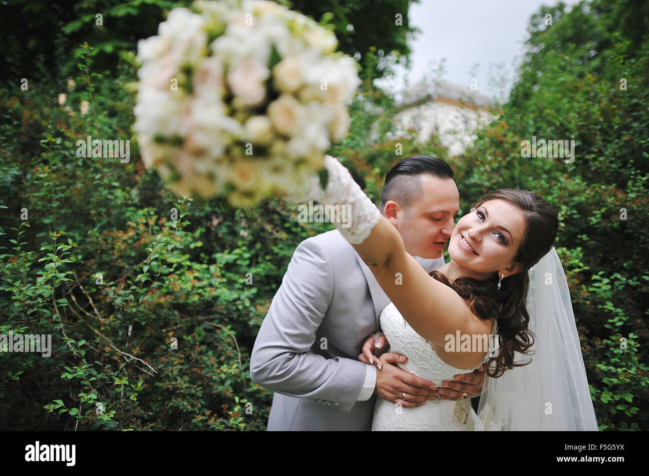
[[[415,259],[428,272],[444,265]],[[268,430],[371,429],[376,396],[356,401],[358,355],[388,303],[337,230],[300,243],[252,349],[252,381],[275,391]]]

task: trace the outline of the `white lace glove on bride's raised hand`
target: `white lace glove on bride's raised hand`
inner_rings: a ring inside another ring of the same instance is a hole
[[[381,213],[343,164],[331,155],[325,155],[324,166],[328,172],[325,190],[318,177],[312,177],[304,194],[287,199],[294,203],[309,199],[319,201],[324,205],[325,216],[345,239],[354,245],[361,244],[380,220]]]

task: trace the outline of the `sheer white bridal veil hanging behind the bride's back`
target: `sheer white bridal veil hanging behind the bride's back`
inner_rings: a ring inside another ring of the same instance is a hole
[[[554,247],[529,271],[527,308],[534,344],[487,376],[476,431],[597,431],[568,282]]]

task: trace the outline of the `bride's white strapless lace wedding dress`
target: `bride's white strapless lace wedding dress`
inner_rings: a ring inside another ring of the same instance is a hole
[[[471,372],[471,369],[452,367],[440,359],[426,340],[404,321],[394,304],[384,308],[380,320],[390,352],[408,357],[405,364],[398,364],[403,370],[430,380],[439,388],[443,381]],[[432,399],[417,408],[401,407],[377,398],[372,431],[473,431],[475,419],[468,398],[459,401]]]

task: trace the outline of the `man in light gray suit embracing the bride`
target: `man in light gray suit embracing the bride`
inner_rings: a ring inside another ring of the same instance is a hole
[[[382,214],[427,272],[445,264],[443,250],[459,211],[453,177],[445,161],[417,155],[389,170],[381,192]],[[275,391],[269,431],[369,431],[377,396],[417,407],[429,398],[458,400],[463,392],[480,392],[484,372],[434,389],[396,365],[378,370],[367,365],[368,357],[378,361],[369,351],[374,338],[367,336],[380,330],[379,316],[388,303],[337,230],[300,243],[252,349],[252,381]],[[376,347],[384,342],[378,339]],[[361,348],[362,362],[356,360]],[[395,363],[407,359],[389,357]]]

